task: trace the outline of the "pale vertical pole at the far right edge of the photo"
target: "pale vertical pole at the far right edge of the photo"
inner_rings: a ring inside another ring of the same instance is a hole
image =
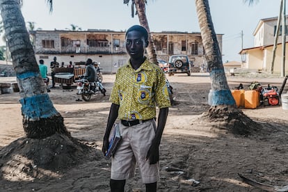
[[[283,0],[282,9],[282,67],[281,77],[285,77],[285,51],[286,51],[286,0]]]

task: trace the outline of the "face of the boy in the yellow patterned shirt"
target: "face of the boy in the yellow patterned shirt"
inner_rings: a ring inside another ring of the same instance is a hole
[[[126,36],[126,49],[131,58],[143,58],[145,51],[145,38],[139,31],[130,31]]]

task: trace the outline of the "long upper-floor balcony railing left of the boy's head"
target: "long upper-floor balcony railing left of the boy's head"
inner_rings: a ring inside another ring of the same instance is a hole
[[[126,54],[125,47],[61,47],[57,49],[37,49],[36,54]]]

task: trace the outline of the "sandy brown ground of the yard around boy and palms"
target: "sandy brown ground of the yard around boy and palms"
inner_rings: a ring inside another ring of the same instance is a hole
[[[265,184],[288,184],[288,111],[281,106],[242,109],[248,117],[262,124],[264,131],[250,136],[234,136],[226,131],[216,131],[199,120],[200,115],[209,109],[208,74],[192,74],[191,77],[175,74],[167,78],[173,86],[176,105],[170,108],[161,142],[158,191],[261,191],[243,183],[237,173]],[[103,82],[107,95],[94,95],[90,102],[76,101],[80,98],[76,89],[57,86],[49,93],[72,136],[92,146],[98,155],[114,79],[115,75],[105,74]],[[227,77],[227,80],[230,88],[239,83],[247,88],[252,81],[280,88],[283,81],[264,74]],[[4,81],[15,79],[0,78],[0,82]],[[0,110],[1,152],[24,136],[19,93],[0,95]],[[109,191],[110,166],[109,160],[98,157],[37,179],[23,173],[4,173],[5,166],[0,162],[0,191]],[[170,171],[169,168],[177,170]],[[43,170],[43,173],[48,172]],[[138,170],[136,177],[127,181],[125,189],[145,191]]]

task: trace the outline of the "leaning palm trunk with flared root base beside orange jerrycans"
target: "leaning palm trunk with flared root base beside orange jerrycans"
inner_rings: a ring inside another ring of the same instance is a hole
[[[221,125],[216,123],[218,127],[229,129],[235,134],[248,134],[249,131],[257,128],[257,125],[235,105],[224,72],[209,1],[195,0],[195,6],[211,79],[211,107],[207,113],[203,114],[203,118],[208,118],[210,122],[221,122]]]

